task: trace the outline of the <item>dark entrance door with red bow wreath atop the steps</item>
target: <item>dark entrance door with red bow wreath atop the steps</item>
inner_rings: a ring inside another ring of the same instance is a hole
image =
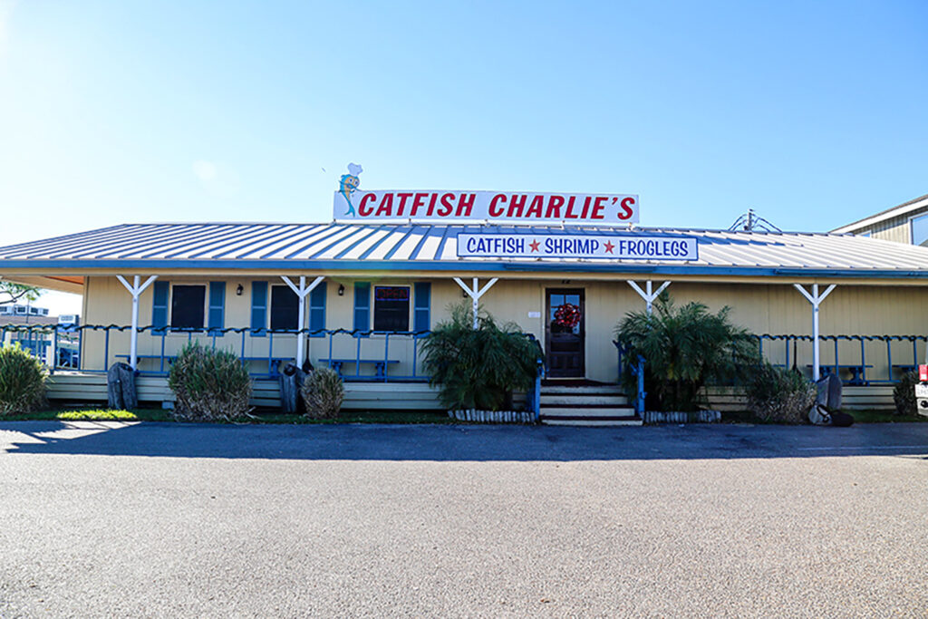
[[[549,289],[545,290],[545,297],[545,316],[548,316],[545,327],[548,376],[582,379],[586,376],[583,290]]]

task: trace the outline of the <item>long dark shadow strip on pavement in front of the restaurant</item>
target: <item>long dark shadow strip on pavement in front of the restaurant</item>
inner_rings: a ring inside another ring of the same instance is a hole
[[[7,421],[0,422],[0,454],[438,461],[928,459],[928,423],[861,424],[852,428],[563,428]]]

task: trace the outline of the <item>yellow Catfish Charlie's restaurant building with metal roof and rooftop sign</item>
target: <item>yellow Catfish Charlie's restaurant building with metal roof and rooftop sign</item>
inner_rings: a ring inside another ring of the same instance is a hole
[[[924,357],[928,248],[638,227],[629,195],[355,188],[333,208],[325,224],[131,224],[22,243],[0,248],[0,276],[83,294],[80,372],[53,377],[66,399],[99,394],[93,377],[125,361],[142,399],[170,400],[171,357],[198,340],[249,364],[259,405],[282,364],[308,359],[342,372],[347,406],[436,407],[421,338],[452,305],[479,303],[540,342],[549,391],[575,384],[621,420],[634,411],[616,391],[614,331],[662,290],[728,305],[772,362],[835,371],[861,406],[891,406],[898,373]],[[545,395],[542,415],[548,401],[550,419],[583,417]]]

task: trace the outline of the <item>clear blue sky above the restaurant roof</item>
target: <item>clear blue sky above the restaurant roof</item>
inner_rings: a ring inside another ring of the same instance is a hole
[[[825,230],[928,193],[923,2],[0,0],[3,244],[362,188]]]

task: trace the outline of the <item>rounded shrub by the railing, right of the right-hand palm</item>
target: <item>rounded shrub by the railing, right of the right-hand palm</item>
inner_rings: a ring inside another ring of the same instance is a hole
[[[794,369],[764,363],[754,371],[746,387],[748,408],[760,419],[778,423],[806,423],[815,404],[814,383]]]

